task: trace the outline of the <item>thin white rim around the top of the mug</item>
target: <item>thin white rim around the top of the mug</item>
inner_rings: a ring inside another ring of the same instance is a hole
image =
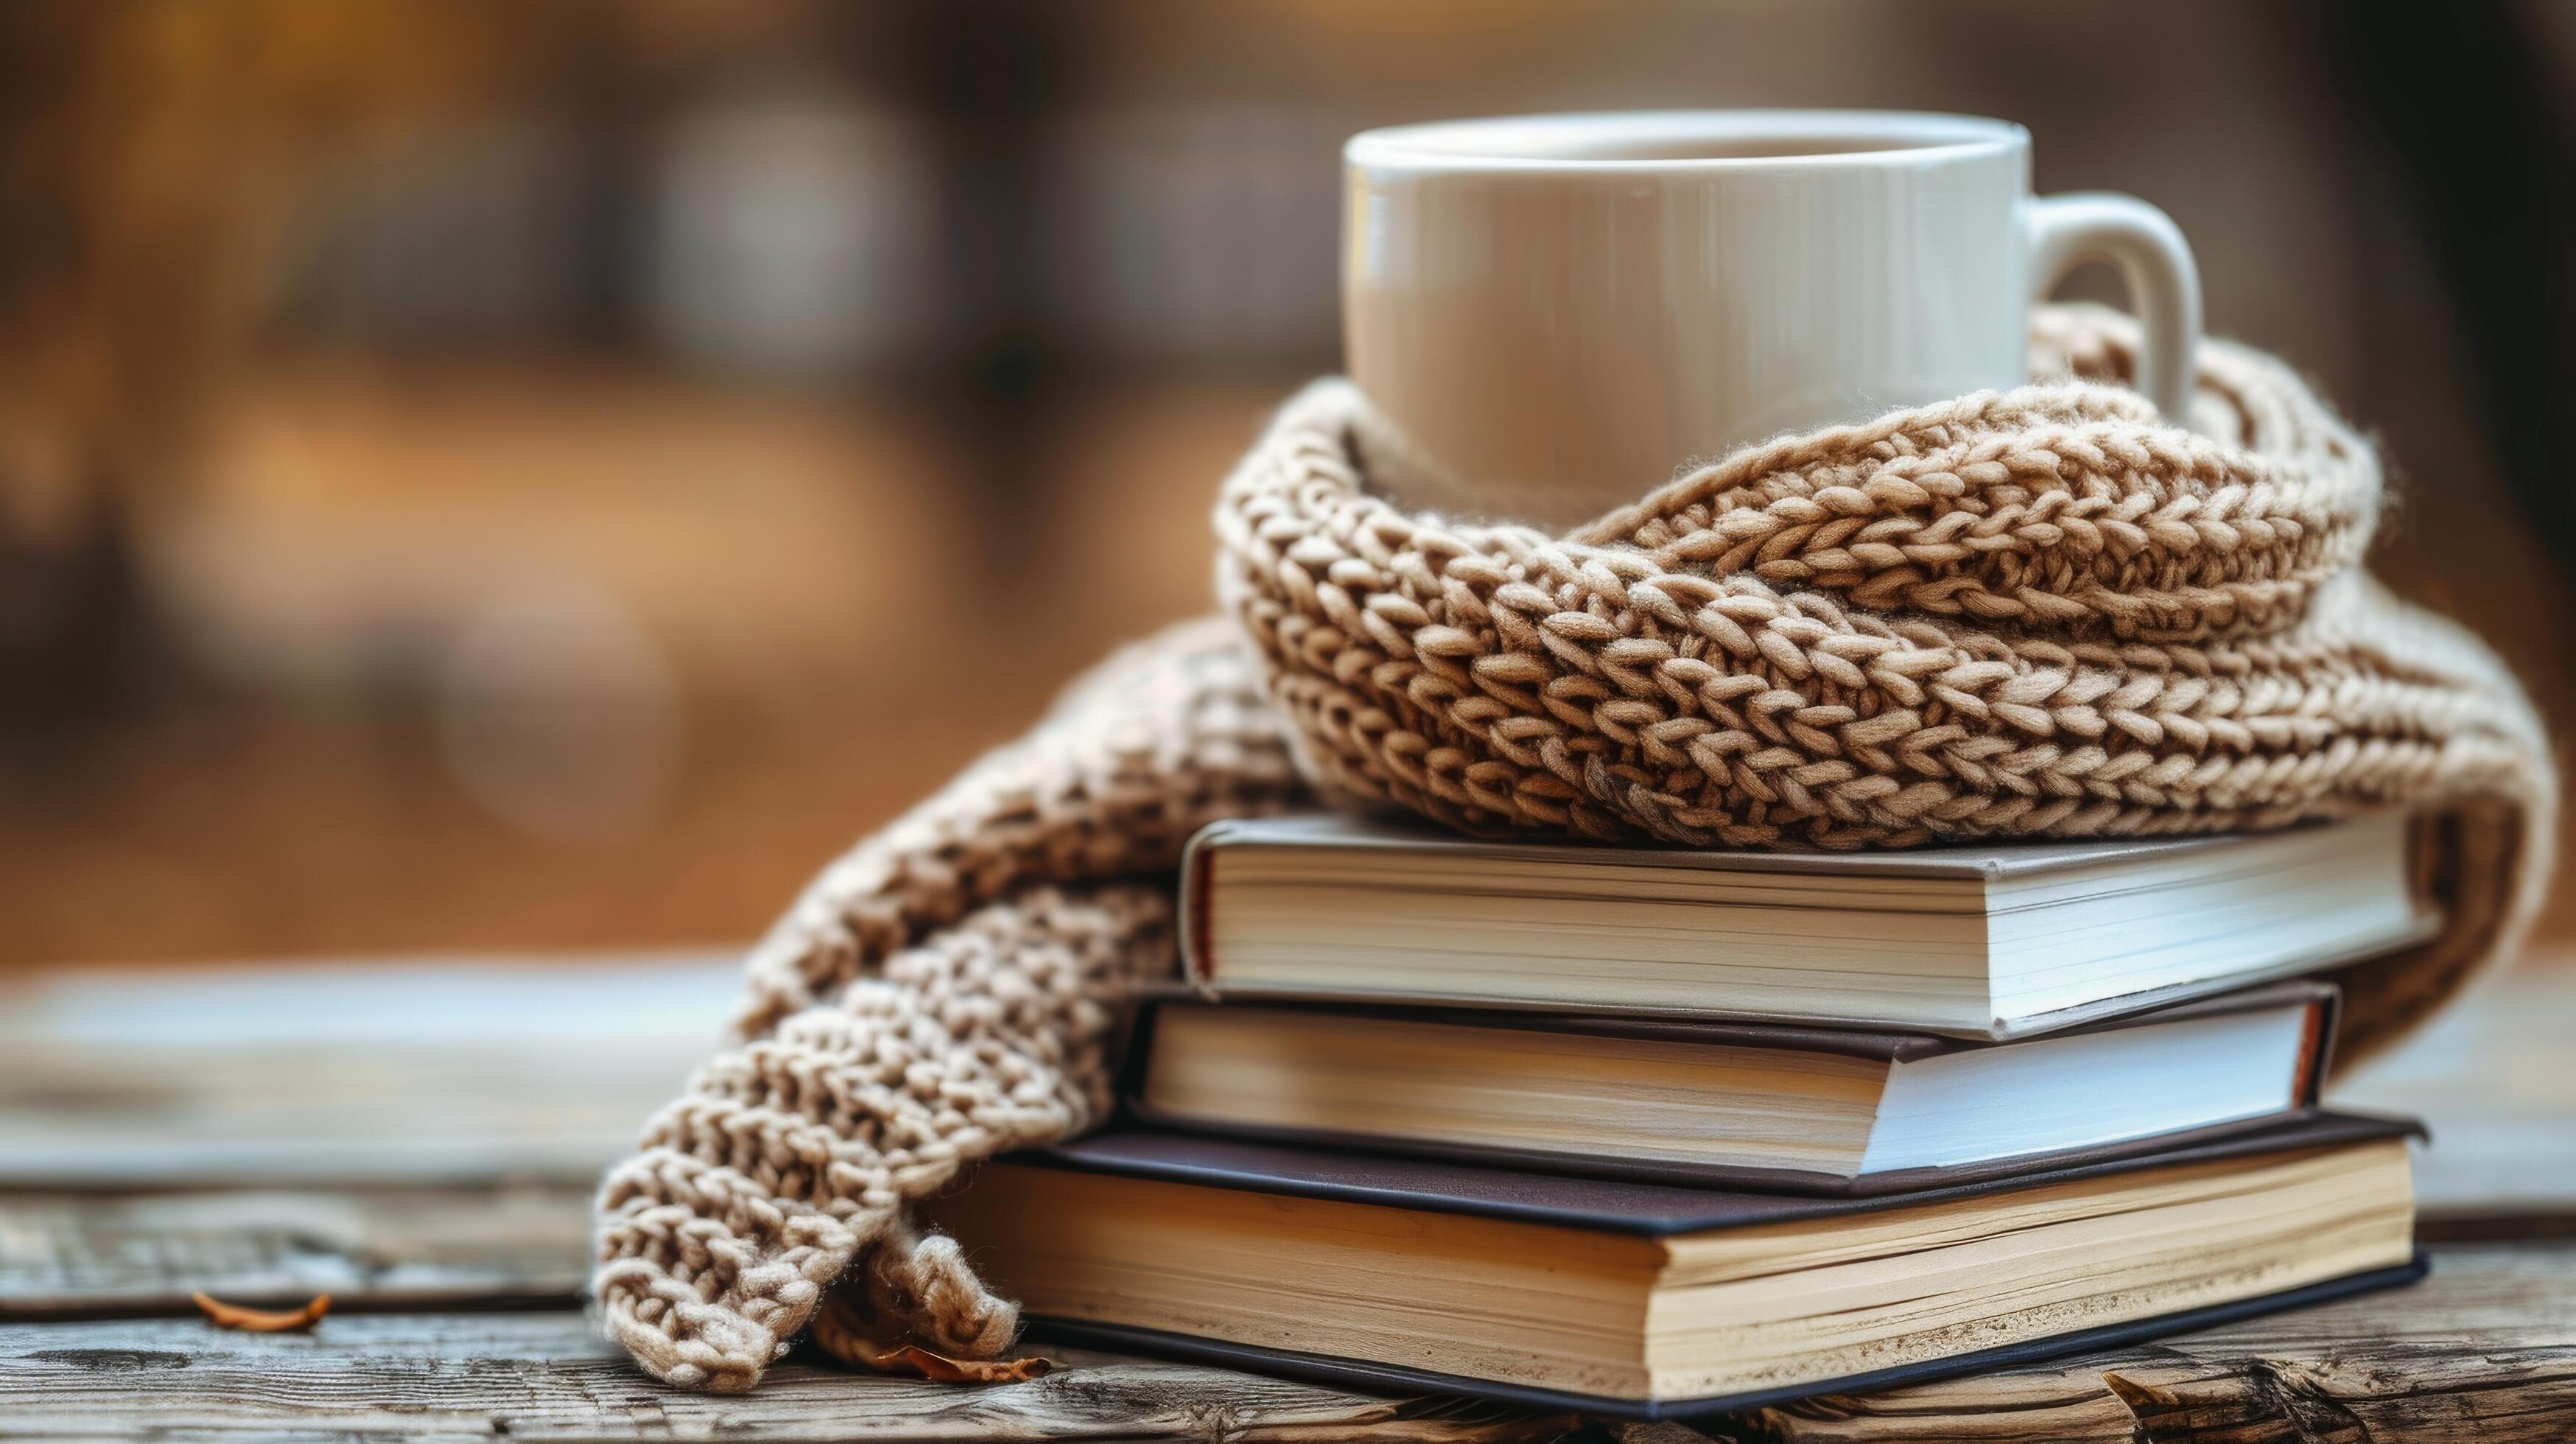
[[[1850,150],[1783,155],[1584,155],[1584,144],[1744,144],[1801,142]],[[1556,144],[1558,150],[1546,150]],[[1566,111],[1540,116],[1468,116],[1376,126],[1342,144],[1342,162],[1373,173],[1723,173],[1844,165],[1927,165],[2004,155],[2030,144],[2014,121],[1947,111]]]

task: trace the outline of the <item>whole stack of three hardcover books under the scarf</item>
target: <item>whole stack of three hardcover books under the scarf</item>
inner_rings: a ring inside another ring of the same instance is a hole
[[[2401,817],[1906,854],[1221,823],[1121,1127],[933,1207],[1072,1343],[1656,1418],[2411,1279],[2318,1109]]]

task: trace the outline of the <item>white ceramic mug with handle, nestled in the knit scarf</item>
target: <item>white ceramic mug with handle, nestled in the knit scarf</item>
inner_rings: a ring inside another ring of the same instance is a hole
[[[2027,379],[2112,260],[2182,415],[2200,276],[2164,211],[2032,196],[2030,132],[1904,111],[1510,116],[1342,150],[1342,320],[1399,500],[1571,526],[1767,436]]]

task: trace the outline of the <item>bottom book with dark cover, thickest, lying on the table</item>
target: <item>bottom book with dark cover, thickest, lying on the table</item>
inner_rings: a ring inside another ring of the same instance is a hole
[[[1870,1199],[1123,1132],[933,1217],[1069,1343],[1687,1418],[2414,1279],[2414,1132],[2321,1114]]]

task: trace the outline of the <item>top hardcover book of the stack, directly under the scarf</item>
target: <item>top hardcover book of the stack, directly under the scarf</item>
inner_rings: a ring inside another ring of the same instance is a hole
[[[2437,918],[2409,820],[1875,854],[1484,843],[1216,823],[1182,861],[1203,993],[2025,1037],[2354,962]]]

